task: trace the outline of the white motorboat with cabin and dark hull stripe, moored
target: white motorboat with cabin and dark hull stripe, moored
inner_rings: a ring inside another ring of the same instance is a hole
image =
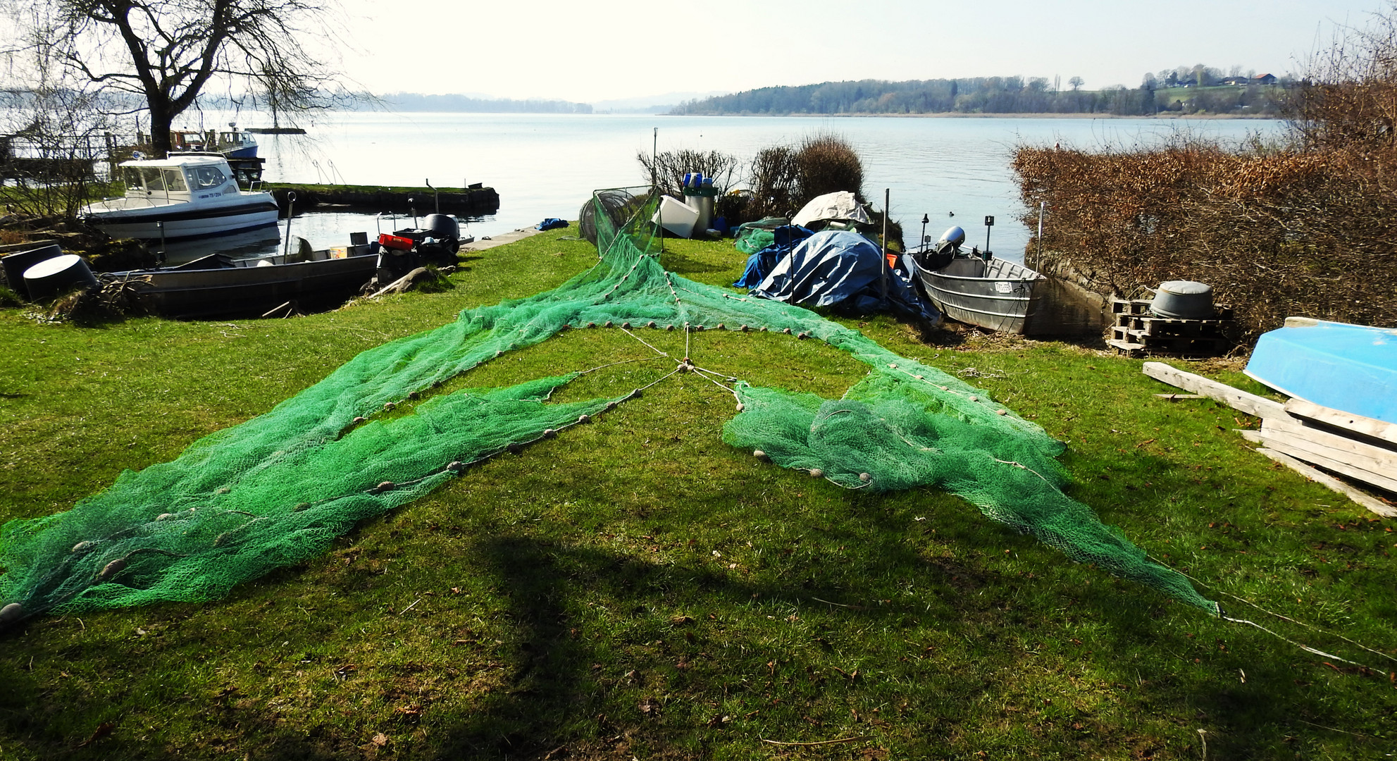
[[[271,194],[239,189],[221,155],[172,154],[120,166],[126,197],[82,209],[89,225],[112,237],[182,240],[277,223]]]

